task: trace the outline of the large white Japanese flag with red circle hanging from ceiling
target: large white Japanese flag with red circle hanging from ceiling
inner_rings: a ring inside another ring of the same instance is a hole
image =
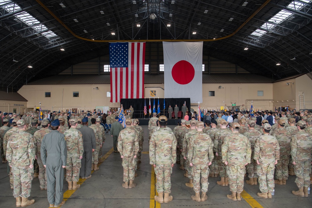
[[[203,42],[163,42],[166,98],[190,98],[202,103]]]

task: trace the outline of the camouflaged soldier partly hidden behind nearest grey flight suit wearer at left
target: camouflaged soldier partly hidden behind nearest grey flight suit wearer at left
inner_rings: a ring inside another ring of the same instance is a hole
[[[34,133],[34,144],[35,144],[35,152],[37,156],[37,162],[39,166],[39,182],[40,182],[40,190],[46,190],[47,185],[47,177],[46,177],[46,168],[43,166],[43,162],[41,160],[41,141],[43,137],[50,133],[52,130],[49,129],[49,120],[43,119],[41,121],[42,128]]]

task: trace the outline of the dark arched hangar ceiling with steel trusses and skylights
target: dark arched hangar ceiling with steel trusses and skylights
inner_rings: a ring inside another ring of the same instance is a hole
[[[108,55],[108,42],[96,41],[117,40],[209,39],[204,55],[231,60],[253,74],[280,79],[307,73],[311,8],[309,0],[0,0],[0,84],[17,90]],[[218,39],[253,14],[233,36]]]

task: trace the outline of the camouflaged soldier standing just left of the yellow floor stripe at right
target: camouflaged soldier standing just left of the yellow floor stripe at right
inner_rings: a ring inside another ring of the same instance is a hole
[[[251,158],[249,139],[239,133],[240,128],[242,128],[240,124],[232,123],[233,133],[224,138],[222,143],[222,162],[227,166],[230,191],[232,191],[232,195],[227,195],[227,198],[233,201],[241,201],[245,166],[250,163]]]

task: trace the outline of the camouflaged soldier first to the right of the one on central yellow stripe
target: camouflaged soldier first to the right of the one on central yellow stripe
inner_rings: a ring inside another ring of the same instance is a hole
[[[204,122],[199,121],[196,124],[197,133],[193,134],[190,138],[188,144],[188,160],[190,166],[192,166],[192,176],[193,176],[193,189],[195,191],[195,196],[192,195],[191,198],[194,201],[206,201],[207,200],[207,190],[208,190],[208,175],[209,175],[209,165],[214,158],[213,155],[213,143],[208,134],[203,133]],[[200,189],[200,178],[202,182],[202,189]],[[199,191],[202,191],[202,196],[200,197]]]

